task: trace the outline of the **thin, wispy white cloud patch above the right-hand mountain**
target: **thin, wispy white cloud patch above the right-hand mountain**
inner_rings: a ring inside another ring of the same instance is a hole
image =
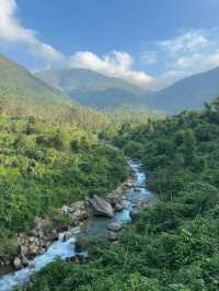
[[[160,86],[219,66],[219,30],[189,30],[173,39],[157,44],[163,72],[158,77]]]

